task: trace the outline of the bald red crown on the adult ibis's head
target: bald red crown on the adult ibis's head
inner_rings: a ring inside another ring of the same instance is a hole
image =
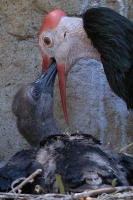
[[[67,16],[66,13],[62,10],[53,10],[43,20],[42,27],[40,29],[40,33],[45,30],[50,30],[55,28],[60,22],[63,16]],[[39,33],[39,35],[40,35]]]

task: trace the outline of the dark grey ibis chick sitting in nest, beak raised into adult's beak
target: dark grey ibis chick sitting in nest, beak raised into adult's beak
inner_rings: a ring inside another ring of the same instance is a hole
[[[30,144],[41,142],[41,147],[18,152],[0,169],[0,191],[10,190],[14,180],[27,177],[38,168],[43,172],[26,185],[23,192],[34,193],[36,184],[45,192],[57,192],[56,173],[61,175],[66,190],[108,187],[115,178],[116,185],[128,185],[130,174],[114,150],[104,148],[90,135],[58,132],[53,118],[55,75],[53,63],[34,83],[20,89],[14,98],[13,112],[20,133]]]

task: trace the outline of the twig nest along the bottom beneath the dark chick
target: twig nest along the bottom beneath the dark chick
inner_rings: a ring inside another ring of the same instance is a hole
[[[36,185],[35,191],[37,195],[33,194],[21,194],[21,189],[28,182],[34,181],[34,177],[42,172],[41,169],[36,170],[27,178],[20,178],[15,180],[11,188],[12,190],[7,193],[0,193],[0,199],[17,199],[17,200],[133,200],[133,186],[121,186],[121,187],[109,187],[96,190],[86,190],[86,191],[67,191],[65,193],[62,188],[62,183],[58,177],[58,186],[60,193],[57,194],[45,194],[43,189]],[[23,180],[24,179],[24,180]],[[19,185],[14,187],[14,185],[20,180],[23,180]],[[64,194],[61,194],[64,193]]]

